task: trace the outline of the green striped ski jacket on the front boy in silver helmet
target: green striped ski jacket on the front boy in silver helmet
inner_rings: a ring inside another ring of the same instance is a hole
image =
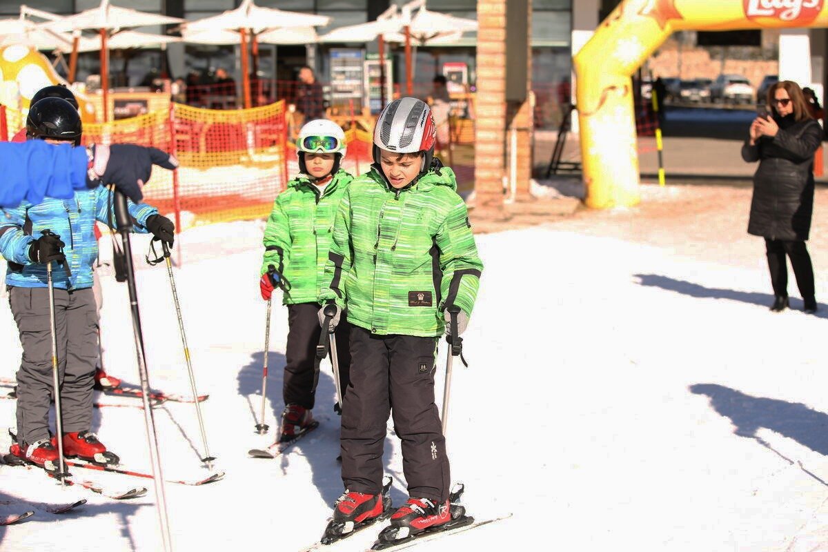
[[[339,204],[320,303],[336,300],[374,334],[438,336],[447,305],[470,316],[483,263],[456,190],[448,167],[402,190],[376,166],[356,178]]]

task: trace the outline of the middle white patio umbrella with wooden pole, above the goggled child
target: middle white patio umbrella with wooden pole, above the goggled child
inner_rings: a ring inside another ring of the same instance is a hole
[[[325,26],[330,17],[310,13],[285,12],[272,7],[260,7],[253,0],[243,0],[241,6],[220,15],[205,17],[185,23],[186,31],[238,31],[242,47],[242,91],[244,107],[250,107],[250,72],[248,70],[248,36],[253,41],[254,55],[256,36],[274,28]]]

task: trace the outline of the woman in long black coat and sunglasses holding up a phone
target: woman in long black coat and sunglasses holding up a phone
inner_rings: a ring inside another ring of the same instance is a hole
[[[744,161],[759,161],[753,175],[748,233],[765,238],[773,286],[771,310],[785,310],[787,265],[791,259],[804,310],[816,313],[814,269],[805,247],[814,205],[814,152],[822,128],[808,110],[799,85],[782,80],[768,89],[771,114],[750,125],[742,146]]]

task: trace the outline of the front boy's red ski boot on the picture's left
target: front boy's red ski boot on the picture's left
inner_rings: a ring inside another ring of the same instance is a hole
[[[325,534],[320,542],[330,545],[375,521],[386,519],[391,514],[391,497],[388,496],[390,488],[391,478],[387,477],[383,481],[383,492],[378,495],[345,491],[336,500],[334,519],[325,527]]]

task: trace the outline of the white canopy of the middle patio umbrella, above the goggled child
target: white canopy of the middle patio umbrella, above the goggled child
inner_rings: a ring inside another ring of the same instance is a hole
[[[265,29],[289,26],[325,26],[330,17],[310,13],[284,12],[273,7],[260,7],[253,0],[244,0],[242,5],[217,16],[205,17],[185,23],[189,31],[220,31],[251,29],[259,33]]]

